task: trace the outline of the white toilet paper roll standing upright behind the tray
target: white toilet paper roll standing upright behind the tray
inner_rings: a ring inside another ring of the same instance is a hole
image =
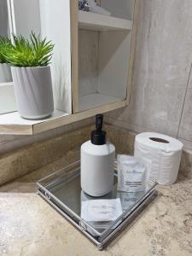
[[[162,185],[177,180],[183,143],[156,132],[143,132],[135,140],[134,156],[150,161],[149,178]]]

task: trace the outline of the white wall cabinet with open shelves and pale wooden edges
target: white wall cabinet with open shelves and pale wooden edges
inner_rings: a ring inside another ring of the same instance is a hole
[[[64,3],[58,1],[61,4],[55,5],[46,0],[36,4],[39,2],[36,0],[33,9],[32,1],[27,0],[30,4],[26,0],[19,2],[27,7],[27,11],[38,13],[38,28],[34,31],[38,32],[41,28],[41,33],[57,46],[52,62],[52,67],[56,67],[52,72],[53,87],[55,108],[63,111],[55,110],[47,119],[27,120],[22,119],[18,112],[4,113],[3,110],[0,114],[0,134],[38,134],[93,117],[96,113],[123,108],[129,102],[131,53],[135,49],[134,45],[131,48],[133,32],[136,37],[136,22],[133,19],[136,1],[122,0],[119,6],[119,1],[102,0],[102,7],[108,9],[111,16],[79,11],[77,0],[66,0],[67,8],[63,15],[61,6]],[[15,21],[21,18],[17,2],[12,1]],[[13,22],[15,32],[25,28],[26,34],[29,34],[29,27],[37,22],[28,19],[26,9],[22,15],[21,27],[18,22]],[[61,31],[63,34],[60,35]]]

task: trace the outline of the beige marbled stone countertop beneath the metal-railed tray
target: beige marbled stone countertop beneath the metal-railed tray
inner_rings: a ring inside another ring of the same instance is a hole
[[[159,186],[160,196],[102,252],[36,194],[36,182],[77,151],[0,188],[0,255],[192,255],[192,179]]]

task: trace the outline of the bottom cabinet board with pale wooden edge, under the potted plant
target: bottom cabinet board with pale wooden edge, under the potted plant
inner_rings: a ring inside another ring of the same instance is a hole
[[[4,113],[0,115],[0,134],[12,134],[12,135],[33,135],[43,131],[49,131],[61,127],[62,125],[68,125],[73,122],[87,119],[95,116],[97,113],[106,113],[117,108],[123,108],[126,105],[126,101],[114,102],[106,104],[105,106],[92,108],[80,113],[65,113],[59,110],[55,110],[52,116],[47,119],[40,120],[28,120],[20,117],[18,112]]]

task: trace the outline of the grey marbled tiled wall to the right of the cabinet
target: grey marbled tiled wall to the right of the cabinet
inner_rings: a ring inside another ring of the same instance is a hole
[[[192,149],[192,1],[140,3],[130,106],[107,120],[178,137]]]

